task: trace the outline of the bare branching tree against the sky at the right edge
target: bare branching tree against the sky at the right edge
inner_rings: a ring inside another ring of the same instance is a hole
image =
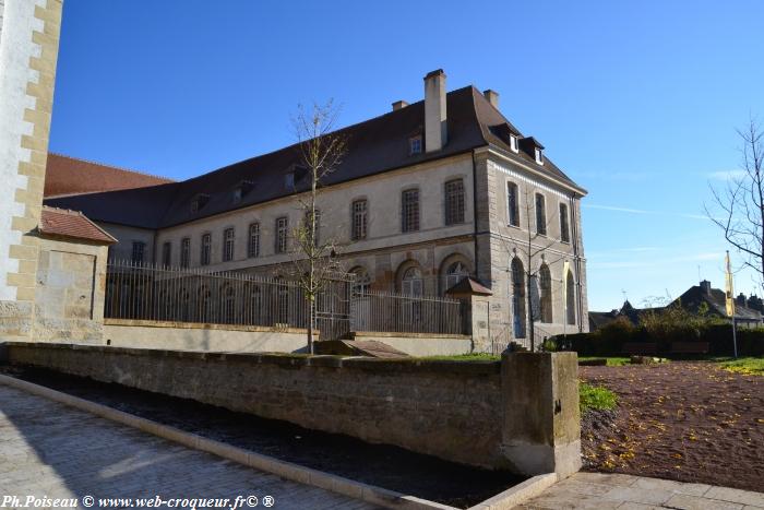
[[[754,118],[738,134],[742,140],[742,175],[713,193],[713,211],[706,215],[725,234],[725,239],[744,257],[744,265],[764,286],[764,131]]]

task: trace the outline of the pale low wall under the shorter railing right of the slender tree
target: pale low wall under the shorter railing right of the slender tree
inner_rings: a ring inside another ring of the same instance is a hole
[[[473,339],[461,334],[357,332],[351,336],[353,340],[383,342],[410,356],[418,357],[468,354],[473,349]]]

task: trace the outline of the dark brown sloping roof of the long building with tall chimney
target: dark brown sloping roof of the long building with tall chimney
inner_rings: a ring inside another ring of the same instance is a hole
[[[324,183],[349,181],[491,145],[582,194],[586,192],[551,161],[545,158],[544,165],[537,165],[533,154],[513,153],[509,132],[520,134],[517,129],[474,86],[450,92],[446,109],[447,143],[441,151],[431,153],[409,155],[409,139],[423,133],[423,100],[336,131],[346,138],[347,153]],[[170,227],[294,193],[294,189],[286,188],[284,179],[299,163],[298,147],[291,145],[182,182],[48,199],[46,203],[76,209],[102,222],[144,228]],[[253,182],[253,188],[236,203],[234,189],[242,181]],[[298,191],[301,191],[299,187]],[[191,202],[199,194],[208,195],[208,200],[198,212],[192,212]]]

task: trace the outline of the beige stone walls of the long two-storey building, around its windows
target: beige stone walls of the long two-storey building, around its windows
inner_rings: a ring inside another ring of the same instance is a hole
[[[446,226],[443,186],[455,178],[462,178],[465,187],[464,222]],[[474,181],[477,182],[477,193],[474,193]],[[517,183],[521,193],[521,223],[517,227],[508,226],[508,182]],[[421,228],[416,233],[402,234],[402,190],[413,187],[420,190]],[[536,225],[533,207],[528,210],[532,217],[526,217],[526,201],[533,200],[536,192],[542,192],[546,197],[547,236],[534,240],[533,251],[541,252],[530,257],[528,262],[527,239],[528,235],[535,234]],[[477,197],[477,207],[474,206],[474,197]],[[349,204],[360,198],[368,200],[368,237],[351,241]],[[439,159],[324,189],[318,204],[321,211],[320,236],[334,239],[341,246],[344,269],[368,274],[371,288],[377,290],[402,292],[404,273],[417,268],[421,274],[423,294],[443,295],[447,287],[449,268],[461,262],[468,274],[485,283],[493,293],[487,298],[486,339],[476,342],[479,351],[489,349],[492,342],[505,344],[509,340],[518,340],[528,343],[527,327],[522,337],[515,335],[513,330],[511,262],[517,257],[524,266],[532,266],[535,272],[546,263],[552,278],[552,320],[549,323],[536,322],[538,345],[544,337],[552,334],[588,330],[580,199],[581,193],[576,190],[548,177],[534,175],[530,169],[499,153],[485,151],[475,156],[465,154]],[[560,241],[560,220],[556,213],[560,203],[569,207],[569,242]],[[158,230],[107,223],[99,225],[120,239],[120,244],[110,251],[110,257],[115,259],[129,260],[132,242],[139,241],[145,245],[145,262],[160,262],[163,245],[168,242],[170,264],[178,265],[181,239],[188,238],[191,244],[190,266],[198,268],[202,236],[210,234],[210,270],[274,274],[288,271],[288,263],[294,257],[293,253],[276,253],[276,218],[287,216],[289,224],[295,225],[300,221],[300,215],[298,198],[289,197]],[[252,223],[260,225],[258,257],[248,256],[248,232]],[[224,262],[223,233],[227,228],[234,228],[235,249],[232,260]],[[565,261],[575,282],[574,323],[566,323],[562,304]],[[527,310],[524,322],[527,323]]]

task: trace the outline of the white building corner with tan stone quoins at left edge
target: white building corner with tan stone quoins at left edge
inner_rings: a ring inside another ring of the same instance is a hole
[[[33,331],[61,0],[4,0],[0,34],[0,340]]]

